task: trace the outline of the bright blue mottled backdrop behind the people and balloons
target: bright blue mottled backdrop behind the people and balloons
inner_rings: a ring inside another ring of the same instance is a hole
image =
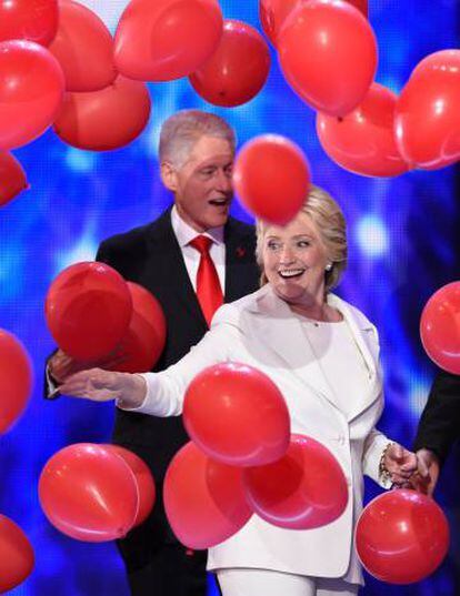
[[[377,81],[399,92],[419,60],[454,48],[457,4],[456,0],[371,1],[370,20],[380,47]],[[227,18],[259,28],[256,0],[221,0],[221,7]],[[13,594],[128,594],[114,545],[79,543],[61,535],[38,503],[37,483],[46,461],[71,443],[106,442],[113,418],[111,405],[42,400],[43,361],[53,347],[43,300],[51,280],[64,266],[92,259],[102,239],[154,219],[169,204],[158,176],[156,148],[161,122],[178,109],[197,107],[223,115],[236,128],[240,143],[277,132],[303,148],[313,181],[338,199],[348,220],[350,264],[339,293],[362,309],[380,331],[387,395],[380,427],[411,445],[434,372],[418,335],[420,313],[438,287],[460,279],[456,168],[411,172],[394,180],[341,170],[319,145],[313,111],[284,83],[274,53],[272,59],[266,88],[243,107],[211,107],[187,80],[151,84],[149,125],[126,149],[82,152],[48,131],[16,151],[31,189],[0,211],[0,326],[27,345],[36,386],[26,414],[0,437],[0,512],[26,531],[37,566]],[[233,213],[250,220],[237,202]],[[460,594],[457,469],[454,452],[437,493],[452,528],[442,567],[413,586],[392,587],[369,578],[363,594]],[[367,499],[379,492],[372,483],[367,487]]]

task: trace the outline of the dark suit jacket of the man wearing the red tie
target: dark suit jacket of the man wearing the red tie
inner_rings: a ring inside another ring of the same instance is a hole
[[[224,228],[226,287],[224,301],[232,302],[257,290],[253,226],[229,219]],[[153,223],[102,242],[97,261],[116,269],[127,281],[143,285],[161,303],[167,319],[167,343],[154,371],[178,362],[204,335],[208,326],[190,282],[180,246],[171,225],[170,210]],[[149,546],[176,542],[164,522],[161,503],[162,478],[174,453],[188,441],[181,417],[156,418],[117,410],[113,442],[138,453],[149,464],[158,488],[158,502],[149,519],[146,543]],[[142,527],[130,533],[140,538]],[[134,563],[134,562],[133,562]],[[140,565],[136,560],[136,565]]]

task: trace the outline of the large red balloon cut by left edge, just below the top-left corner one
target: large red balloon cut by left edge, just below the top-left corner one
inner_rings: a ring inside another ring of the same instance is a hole
[[[56,58],[32,41],[0,43],[0,150],[24,145],[52,124],[64,80]]]

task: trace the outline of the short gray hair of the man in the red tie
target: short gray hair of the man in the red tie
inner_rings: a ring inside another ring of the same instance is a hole
[[[201,110],[180,110],[161,127],[159,160],[180,169],[187,162],[193,145],[201,137],[217,137],[228,141],[234,152],[237,139],[233,129],[220,117]]]

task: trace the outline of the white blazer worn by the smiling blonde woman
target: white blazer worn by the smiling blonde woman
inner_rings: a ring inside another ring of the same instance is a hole
[[[379,462],[389,440],[374,425],[383,407],[376,327],[333,294],[368,367],[361,398],[348,416],[336,405],[332,390],[316,360],[301,323],[269,284],[216,313],[211,330],[180,362],[161,373],[147,373],[147,397],[137,408],[157,416],[179,415],[193,376],[223,361],[250,364],[266,373],[283,394],[291,432],[328,447],[342,466],[349,503],[333,523],[308,531],[283,529],[253,515],[234,536],[209,549],[208,568],[256,567],[362,583],[353,547],[353,526],[362,508],[363,477],[379,482]],[[384,486],[382,484],[382,486]]]

